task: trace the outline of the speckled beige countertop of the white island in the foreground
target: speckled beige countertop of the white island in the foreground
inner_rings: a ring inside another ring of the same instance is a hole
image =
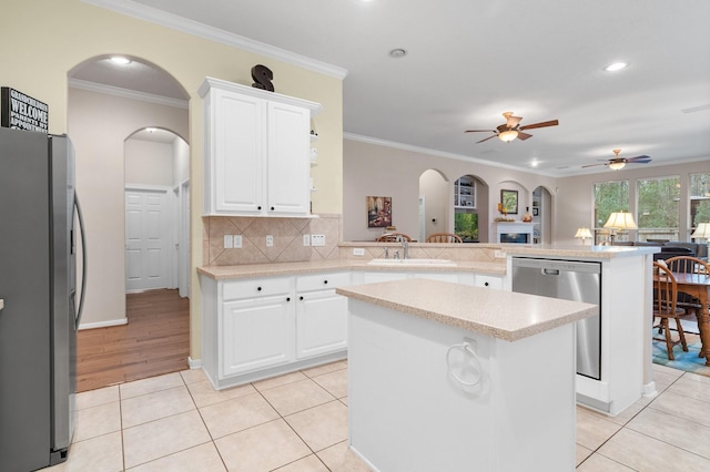
[[[336,293],[506,341],[545,332],[599,312],[597,305],[438,280],[365,284],[337,288]]]

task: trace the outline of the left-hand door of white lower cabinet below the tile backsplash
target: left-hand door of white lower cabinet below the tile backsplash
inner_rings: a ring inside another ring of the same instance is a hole
[[[293,361],[290,294],[222,304],[221,377]]]

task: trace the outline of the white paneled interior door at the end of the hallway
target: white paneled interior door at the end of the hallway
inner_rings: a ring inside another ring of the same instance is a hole
[[[170,213],[164,189],[125,189],[125,290],[166,288]]]

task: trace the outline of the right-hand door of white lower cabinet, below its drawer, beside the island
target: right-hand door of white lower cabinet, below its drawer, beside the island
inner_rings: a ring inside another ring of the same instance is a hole
[[[296,358],[303,359],[347,348],[347,298],[335,290],[298,296]]]

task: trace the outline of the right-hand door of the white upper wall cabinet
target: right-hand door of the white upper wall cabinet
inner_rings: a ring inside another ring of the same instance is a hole
[[[268,213],[307,215],[311,211],[311,112],[268,102]]]

